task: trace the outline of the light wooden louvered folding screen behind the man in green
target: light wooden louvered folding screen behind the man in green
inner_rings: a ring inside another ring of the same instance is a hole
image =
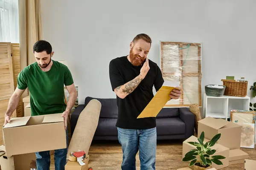
[[[9,100],[17,86],[17,75],[20,73],[19,44],[0,42],[0,127],[3,126],[4,116]],[[12,117],[21,116],[21,99]],[[0,130],[0,145],[3,144],[3,134]]]

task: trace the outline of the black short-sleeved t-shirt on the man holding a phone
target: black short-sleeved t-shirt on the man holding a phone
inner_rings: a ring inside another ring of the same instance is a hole
[[[158,91],[163,85],[163,77],[156,63],[148,60],[149,71],[137,88],[124,99],[116,96],[118,106],[118,119],[116,126],[124,129],[149,129],[156,127],[156,118],[140,118],[137,116],[144,110],[154,97],[153,86]],[[134,66],[127,56],[117,57],[109,64],[109,76],[112,90],[131,81],[140,75],[141,66]]]

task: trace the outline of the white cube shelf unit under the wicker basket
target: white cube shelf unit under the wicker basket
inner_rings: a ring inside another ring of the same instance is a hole
[[[233,109],[249,111],[250,97],[236,96],[207,96],[204,94],[204,116],[214,118],[230,118],[230,111]]]

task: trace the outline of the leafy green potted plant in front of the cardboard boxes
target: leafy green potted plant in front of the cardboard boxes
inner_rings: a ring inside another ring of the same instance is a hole
[[[196,146],[196,149],[190,150],[186,153],[182,161],[191,161],[189,166],[194,166],[194,170],[205,170],[212,167],[212,162],[217,165],[222,165],[223,163],[220,159],[225,159],[226,157],[221,155],[214,155],[216,150],[211,149],[212,146],[220,139],[221,133],[215,135],[212,140],[204,143],[204,131],[198,138],[198,142],[188,142]]]

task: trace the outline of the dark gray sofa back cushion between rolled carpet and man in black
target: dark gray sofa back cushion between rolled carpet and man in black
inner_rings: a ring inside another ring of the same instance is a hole
[[[86,97],[84,100],[84,107],[90,102],[91,99],[97,99],[102,104],[99,118],[116,118],[118,115],[118,108],[116,99],[99,99],[93,97]]]

